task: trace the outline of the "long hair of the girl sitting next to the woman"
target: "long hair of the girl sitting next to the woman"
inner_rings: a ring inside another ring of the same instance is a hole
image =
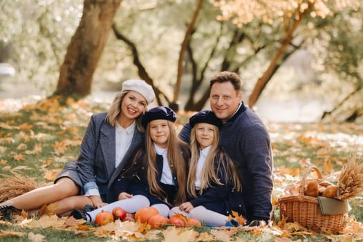
[[[187,183],[187,160],[185,160],[185,156],[183,156],[183,151],[187,148],[187,145],[176,135],[174,123],[167,121],[167,125],[170,131],[167,142],[167,160],[169,162],[171,173],[176,175],[176,179],[178,181],[178,191],[176,192],[173,205],[179,205],[186,201],[187,198],[185,193]],[[145,146],[147,147],[147,182],[149,183],[149,192],[153,196],[160,196],[165,203],[171,205],[167,201],[167,194],[165,194],[158,185],[157,174],[162,171],[158,171],[158,167],[156,165],[156,150],[153,146],[153,140],[151,140],[149,124],[147,124],[147,129],[145,131]]]

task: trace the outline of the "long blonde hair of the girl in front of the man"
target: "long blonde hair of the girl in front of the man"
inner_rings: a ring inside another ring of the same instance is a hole
[[[196,168],[198,165],[198,159],[201,155],[201,146],[196,140],[196,127],[195,125],[190,133],[190,149],[192,157],[189,162],[189,172],[187,178],[187,194],[196,198],[198,195],[203,194],[203,190],[207,187],[213,187],[214,185],[232,185],[234,189],[241,191],[241,183],[239,176],[236,172],[236,168],[227,153],[219,147],[219,130],[218,127],[213,126],[214,140],[210,147],[210,151],[205,158],[205,162],[201,171],[201,188],[199,194],[196,192],[195,181],[196,181]],[[216,160],[216,163],[214,162]],[[222,176],[230,184],[223,184],[221,180],[218,180],[218,172],[225,171]]]

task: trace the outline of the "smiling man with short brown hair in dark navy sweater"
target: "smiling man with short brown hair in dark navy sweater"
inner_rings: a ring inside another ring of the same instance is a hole
[[[221,146],[234,161],[242,184],[248,225],[270,219],[273,159],[268,131],[242,101],[242,81],[236,73],[216,74],[210,81],[210,106],[221,119]],[[186,124],[179,137],[189,141]]]

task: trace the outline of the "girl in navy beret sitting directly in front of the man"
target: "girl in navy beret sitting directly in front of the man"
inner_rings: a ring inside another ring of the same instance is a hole
[[[192,127],[192,158],[187,178],[189,201],[172,208],[169,216],[180,213],[213,227],[225,225],[232,211],[239,214],[245,211],[233,162],[218,145],[222,122],[212,111],[200,111],[190,118],[189,124]]]

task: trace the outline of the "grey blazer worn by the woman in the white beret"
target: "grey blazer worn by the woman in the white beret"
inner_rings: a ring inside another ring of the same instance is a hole
[[[93,184],[91,186],[93,188],[96,184],[102,200],[111,203],[117,200],[116,194],[111,190],[111,185],[124,165],[127,164],[127,160],[136,153],[145,134],[135,129],[129,150],[120,165],[115,168],[115,127],[106,122],[105,118],[106,113],[92,115],[82,140],[80,156],[74,162],[67,164],[56,180],[64,176],[71,178],[82,187],[80,194],[87,192],[88,185]]]

